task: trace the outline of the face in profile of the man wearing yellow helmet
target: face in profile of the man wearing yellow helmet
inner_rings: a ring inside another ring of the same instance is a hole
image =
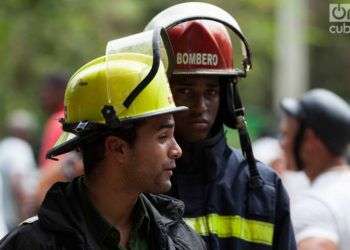
[[[171,187],[175,159],[182,154],[174,138],[172,115],[151,118],[137,129],[129,166],[129,183],[137,191],[164,193]]]

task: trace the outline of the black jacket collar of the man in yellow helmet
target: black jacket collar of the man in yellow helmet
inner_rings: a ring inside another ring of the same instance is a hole
[[[77,195],[78,178],[70,183],[56,183],[50,188],[38,212],[39,221],[46,230],[64,236],[62,240],[76,249],[80,249],[78,245],[84,249],[98,249],[82,213],[81,199]],[[153,225],[151,230],[162,234],[178,223],[184,213],[183,202],[165,195],[140,194],[140,199]]]

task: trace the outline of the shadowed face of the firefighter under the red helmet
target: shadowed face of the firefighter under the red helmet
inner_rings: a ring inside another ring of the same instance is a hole
[[[187,142],[205,139],[219,109],[219,78],[214,76],[173,76],[170,81],[176,105],[189,111],[174,115],[176,136]]]

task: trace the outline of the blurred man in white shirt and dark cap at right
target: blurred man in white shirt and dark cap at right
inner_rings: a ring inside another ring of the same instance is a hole
[[[281,102],[281,145],[288,164],[311,185],[291,206],[298,249],[347,250],[350,246],[350,106],[336,94],[314,89]]]

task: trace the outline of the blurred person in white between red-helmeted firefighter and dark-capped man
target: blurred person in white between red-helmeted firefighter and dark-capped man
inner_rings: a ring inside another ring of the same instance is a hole
[[[305,192],[310,182],[302,171],[296,171],[287,164],[282,147],[278,139],[262,137],[253,143],[254,156],[257,160],[271,166],[281,177],[286,188],[291,204]]]

